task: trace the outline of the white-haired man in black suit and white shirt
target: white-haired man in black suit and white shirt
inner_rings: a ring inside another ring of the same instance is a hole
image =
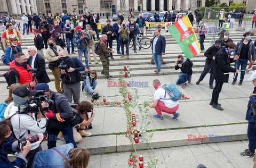
[[[31,68],[38,68],[38,71],[36,72],[36,79],[38,83],[49,83],[50,78],[45,70],[44,58],[37,54],[37,48],[35,46],[28,47],[28,54],[29,58],[27,63],[31,66]]]

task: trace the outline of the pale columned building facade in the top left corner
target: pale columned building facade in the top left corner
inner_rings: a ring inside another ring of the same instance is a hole
[[[0,0],[0,12],[11,15],[37,13],[36,0]]]

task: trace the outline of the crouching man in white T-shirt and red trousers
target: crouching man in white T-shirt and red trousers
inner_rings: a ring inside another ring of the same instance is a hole
[[[179,109],[179,101],[171,100],[169,94],[166,94],[166,91],[161,87],[161,83],[158,79],[153,81],[153,86],[156,89],[154,94],[153,103],[149,105],[150,108],[155,108],[156,113],[154,117],[157,119],[164,119],[162,112],[167,114],[172,114],[173,120],[177,120],[180,116],[176,111]]]

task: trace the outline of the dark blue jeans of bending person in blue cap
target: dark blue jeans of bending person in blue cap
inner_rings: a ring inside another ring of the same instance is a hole
[[[57,137],[58,137],[60,131],[63,133],[66,143],[67,144],[71,143],[76,148],[77,146],[76,146],[76,142],[75,142],[74,136],[73,136],[73,127],[70,124],[65,124],[64,127],[61,129],[49,128],[48,138],[47,138],[48,149],[56,147],[56,141],[57,141]]]

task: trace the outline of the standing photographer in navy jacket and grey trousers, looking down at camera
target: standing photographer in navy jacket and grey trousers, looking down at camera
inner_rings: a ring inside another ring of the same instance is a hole
[[[60,78],[62,79],[63,88],[65,90],[64,95],[68,98],[68,102],[72,102],[72,95],[74,103],[80,102],[80,91],[81,91],[81,81],[82,76],[79,71],[84,71],[85,67],[83,63],[77,58],[70,58],[68,56],[68,51],[62,49],[59,52],[61,57],[61,64],[59,66]]]

